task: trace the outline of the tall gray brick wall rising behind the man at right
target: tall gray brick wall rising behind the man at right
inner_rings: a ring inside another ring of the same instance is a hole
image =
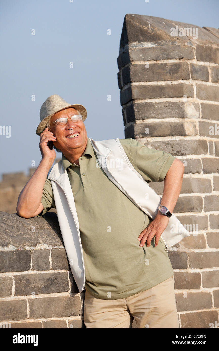
[[[172,36],[177,26],[198,37]],[[174,214],[190,237],[168,255],[180,327],[209,328],[219,313],[219,30],[127,14],[117,62],[125,138],[185,165]],[[162,196],[163,182],[149,185]]]

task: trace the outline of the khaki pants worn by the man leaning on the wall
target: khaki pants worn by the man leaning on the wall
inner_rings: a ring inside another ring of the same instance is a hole
[[[103,300],[87,290],[84,324],[87,328],[179,328],[174,276],[143,292],[117,300]]]

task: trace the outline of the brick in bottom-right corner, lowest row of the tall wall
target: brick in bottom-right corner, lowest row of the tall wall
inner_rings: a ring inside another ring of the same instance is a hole
[[[216,320],[218,322],[217,311],[200,311],[193,313],[182,313],[180,314],[181,328],[197,328],[207,329],[210,327],[210,323],[214,324]]]

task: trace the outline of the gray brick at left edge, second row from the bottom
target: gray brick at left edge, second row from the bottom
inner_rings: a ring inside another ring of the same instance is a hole
[[[7,300],[0,303],[0,321],[21,320],[27,318],[26,300]]]

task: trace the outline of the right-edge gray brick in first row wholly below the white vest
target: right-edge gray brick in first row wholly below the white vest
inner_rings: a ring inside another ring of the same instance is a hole
[[[189,252],[191,268],[213,268],[219,267],[219,252]]]

